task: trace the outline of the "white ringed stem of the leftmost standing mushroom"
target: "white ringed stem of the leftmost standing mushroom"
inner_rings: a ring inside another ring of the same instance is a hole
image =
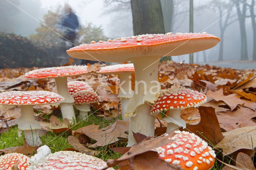
[[[21,116],[16,123],[18,128],[24,131],[25,140],[30,146],[40,146],[42,144],[37,132],[41,127],[38,121],[35,120],[33,105],[21,106]]]

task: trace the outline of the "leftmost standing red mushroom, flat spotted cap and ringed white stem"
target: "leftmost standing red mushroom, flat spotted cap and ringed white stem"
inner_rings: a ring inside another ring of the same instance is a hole
[[[37,130],[40,124],[34,118],[33,105],[59,103],[64,98],[50,91],[7,91],[0,93],[0,105],[16,105],[21,107],[21,116],[16,123],[24,131],[26,142],[30,146],[40,146],[42,142]]]

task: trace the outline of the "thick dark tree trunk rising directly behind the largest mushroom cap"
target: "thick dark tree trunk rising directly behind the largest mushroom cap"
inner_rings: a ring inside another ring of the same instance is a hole
[[[160,0],[131,0],[133,34],[164,34]]]

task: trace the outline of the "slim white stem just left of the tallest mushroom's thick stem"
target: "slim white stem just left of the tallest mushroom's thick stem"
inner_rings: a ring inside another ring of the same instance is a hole
[[[118,97],[120,98],[122,120],[126,120],[124,117],[125,109],[129,99],[133,96],[134,91],[132,90],[131,73],[119,73],[120,76],[120,87]]]

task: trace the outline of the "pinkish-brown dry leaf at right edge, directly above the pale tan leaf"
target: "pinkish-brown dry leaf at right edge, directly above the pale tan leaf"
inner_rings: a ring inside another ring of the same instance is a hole
[[[256,117],[256,112],[245,107],[238,107],[236,111],[232,112],[225,111],[217,113],[220,127],[226,131],[235,128],[256,126],[256,122],[252,119],[253,117]]]

